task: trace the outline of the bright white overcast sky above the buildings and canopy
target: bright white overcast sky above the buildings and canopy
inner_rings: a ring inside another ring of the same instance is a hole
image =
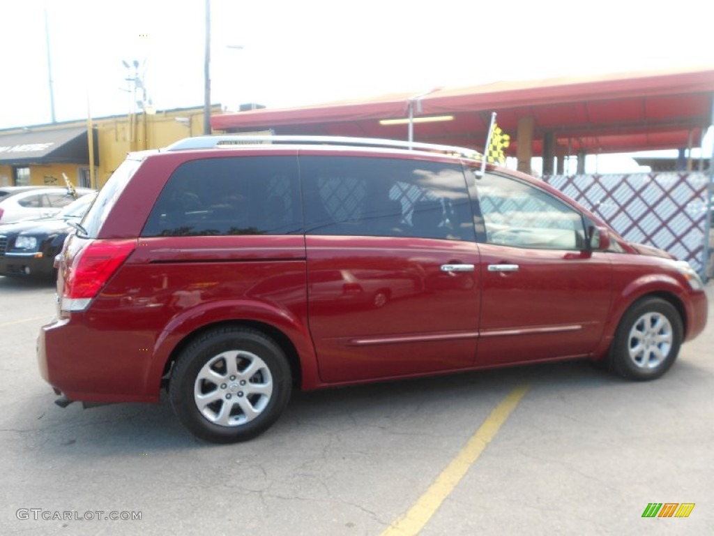
[[[499,5],[503,6],[499,9]],[[0,128],[203,104],[203,0],[0,7]],[[211,0],[214,103],[296,106],[505,79],[714,66],[713,0]],[[243,46],[231,49],[228,46]]]

